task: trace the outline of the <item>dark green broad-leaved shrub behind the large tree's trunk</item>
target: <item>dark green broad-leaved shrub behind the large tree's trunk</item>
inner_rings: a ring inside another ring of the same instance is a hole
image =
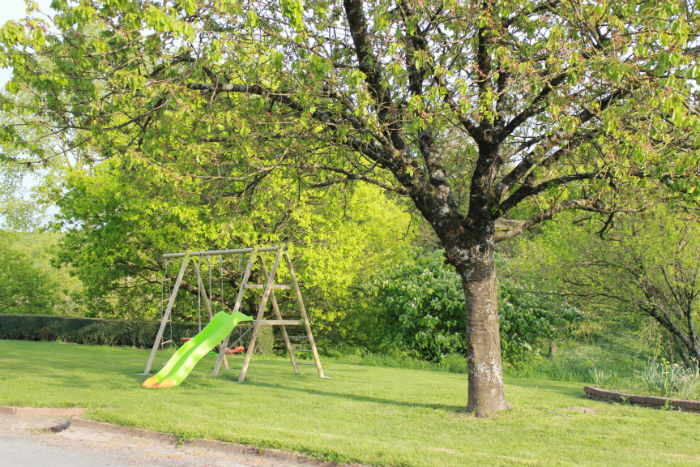
[[[464,303],[459,276],[441,251],[418,250],[415,257],[379,272],[370,282],[365,343],[426,360],[466,353]],[[523,363],[566,341],[581,313],[556,294],[537,293],[510,280],[499,284],[501,347],[504,358]],[[454,358],[454,357],[450,357]]]

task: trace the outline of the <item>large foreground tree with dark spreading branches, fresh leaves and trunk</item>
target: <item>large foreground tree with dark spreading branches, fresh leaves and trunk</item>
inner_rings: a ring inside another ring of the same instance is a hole
[[[0,33],[14,70],[3,108],[24,125],[4,141],[36,162],[57,154],[48,133],[134,169],[282,168],[305,187],[363,181],[409,197],[461,277],[479,416],[508,406],[495,244],[565,210],[627,209],[631,184],[700,191],[692,3],[53,6],[50,28],[34,18]]]

